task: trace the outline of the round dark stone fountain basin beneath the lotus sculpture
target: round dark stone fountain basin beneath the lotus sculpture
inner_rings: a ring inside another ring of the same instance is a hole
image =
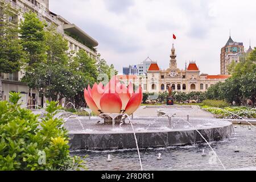
[[[88,121],[82,118],[85,131],[81,131],[76,119],[68,120],[66,127],[69,130],[71,150],[118,150],[137,147],[129,124],[122,127],[117,125],[113,129],[103,121],[97,123],[98,120],[93,118]],[[170,126],[168,122],[167,118],[157,120],[154,117],[134,118],[133,125],[138,147],[154,148],[204,142],[196,130],[209,142],[230,138],[234,131],[231,122],[221,119],[191,119],[189,122],[192,126],[188,126],[178,118],[172,118],[173,126]],[[150,126],[152,123],[154,124]]]

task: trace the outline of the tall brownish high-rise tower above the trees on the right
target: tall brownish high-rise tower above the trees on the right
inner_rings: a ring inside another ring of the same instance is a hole
[[[243,43],[234,42],[229,36],[229,40],[224,47],[221,48],[220,55],[220,70],[221,75],[228,75],[228,66],[230,64],[230,57],[235,57],[233,60],[237,60],[239,62],[239,56],[241,53],[244,53]],[[228,56],[230,55],[230,56]],[[232,60],[232,59],[231,59]]]

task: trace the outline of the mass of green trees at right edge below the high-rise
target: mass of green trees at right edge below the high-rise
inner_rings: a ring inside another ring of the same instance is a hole
[[[205,93],[207,99],[225,100],[236,105],[246,105],[250,99],[256,104],[256,49],[240,57],[240,63],[230,65],[232,77],[225,82],[210,86]]]

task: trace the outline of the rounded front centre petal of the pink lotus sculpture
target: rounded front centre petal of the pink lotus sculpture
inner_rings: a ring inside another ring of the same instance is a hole
[[[104,93],[100,105],[103,113],[120,113],[122,100],[117,93]]]

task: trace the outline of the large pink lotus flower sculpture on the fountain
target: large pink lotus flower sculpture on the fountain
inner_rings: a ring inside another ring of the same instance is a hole
[[[141,105],[142,89],[139,86],[134,92],[131,82],[126,86],[114,76],[105,86],[101,82],[95,83],[92,88],[88,85],[88,89],[84,90],[84,97],[93,113],[104,118],[105,123],[112,123],[112,118],[108,115],[113,113],[120,114],[115,118],[115,123],[120,123],[121,114],[131,115]]]

